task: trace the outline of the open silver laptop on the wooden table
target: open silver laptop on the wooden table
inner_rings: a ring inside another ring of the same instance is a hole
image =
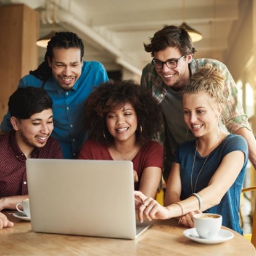
[[[35,232],[134,239],[152,225],[136,221],[133,163],[27,159]]]

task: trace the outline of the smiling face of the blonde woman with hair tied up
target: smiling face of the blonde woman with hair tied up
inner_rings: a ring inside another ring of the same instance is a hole
[[[184,94],[183,112],[186,125],[194,136],[216,133],[221,105],[207,93]]]

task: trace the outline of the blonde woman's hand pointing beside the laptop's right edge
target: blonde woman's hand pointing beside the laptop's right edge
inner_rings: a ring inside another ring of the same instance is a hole
[[[134,191],[136,209],[139,210],[139,221],[143,222],[143,215],[147,220],[165,220],[169,218],[169,211],[151,197],[146,197],[141,191]]]

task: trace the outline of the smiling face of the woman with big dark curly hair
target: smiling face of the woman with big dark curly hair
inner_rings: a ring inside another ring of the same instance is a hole
[[[112,109],[106,116],[106,125],[114,141],[136,141],[137,115],[133,105],[126,103],[119,109]]]

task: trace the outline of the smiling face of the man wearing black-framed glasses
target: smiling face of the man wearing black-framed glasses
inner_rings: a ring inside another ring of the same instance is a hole
[[[154,59],[166,62],[170,59],[179,59],[183,54],[175,47],[167,47],[166,49],[154,52]],[[189,67],[188,64],[192,60],[192,54],[188,54],[178,61],[176,68],[168,68],[163,64],[161,69],[155,69],[163,82],[173,89],[182,89],[189,80]]]

